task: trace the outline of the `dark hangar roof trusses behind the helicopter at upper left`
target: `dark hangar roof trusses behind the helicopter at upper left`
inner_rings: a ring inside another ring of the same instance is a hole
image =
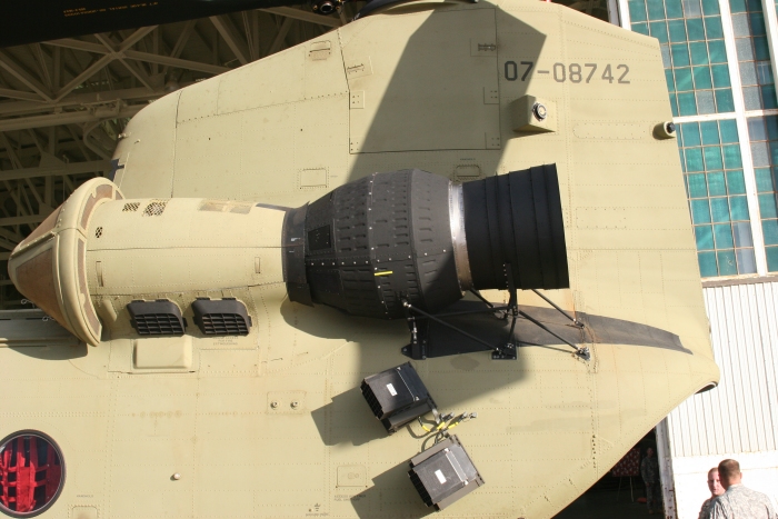
[[[110,171],[129,119],[188,84],[351,19],[310,7],[250,10],[0,48],[0,309],[22,298],[7,260],[83,181]]]

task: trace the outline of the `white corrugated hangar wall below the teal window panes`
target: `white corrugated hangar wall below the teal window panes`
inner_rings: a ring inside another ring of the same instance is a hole
[[[778,280],[734,282],[704,289],[721,381],[667,418],[679,519],[697,518],[707,471],[726,458],[746,486],[778,499]]]

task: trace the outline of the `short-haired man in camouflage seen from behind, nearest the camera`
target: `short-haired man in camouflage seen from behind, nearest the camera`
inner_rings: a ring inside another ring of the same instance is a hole
[[[727,490],[714,500],[711,519],[777,519],[770,498],[742,486],[740,463],[726,459],[719,463],[719,479]]]

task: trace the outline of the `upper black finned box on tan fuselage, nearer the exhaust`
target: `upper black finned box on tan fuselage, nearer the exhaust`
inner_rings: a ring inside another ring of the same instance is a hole
[[[390,435],[435,409],[425,383],[410,362],[362,380],[362,396]]]

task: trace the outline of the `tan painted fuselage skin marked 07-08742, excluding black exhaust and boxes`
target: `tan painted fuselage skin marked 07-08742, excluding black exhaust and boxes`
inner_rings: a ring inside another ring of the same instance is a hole
[[[376,171],[463,182],[556,163],[570,289],[546,296],[682,348],[594,338],[589,361],[561,343],[415,361],[441,412],[478,413],[455,432],[486,485],[440,516],[551,517],[718,381],[677,146],[656,131],[670,119],[656,40],[535,0],[397,7],[171,93],[119,143],[121,200],[67,230],[86,243],[96,346],[7,341],[0,437],[59,443],[67,479],[44,517],[432,513],[407,476],[426,432],[387,436],[359,392],[407,360],[406,323],[290,302],[268,206]],[[191,323],[197,297],[242,301],[251,332],[130,326],[131,300],[173,300]]]

